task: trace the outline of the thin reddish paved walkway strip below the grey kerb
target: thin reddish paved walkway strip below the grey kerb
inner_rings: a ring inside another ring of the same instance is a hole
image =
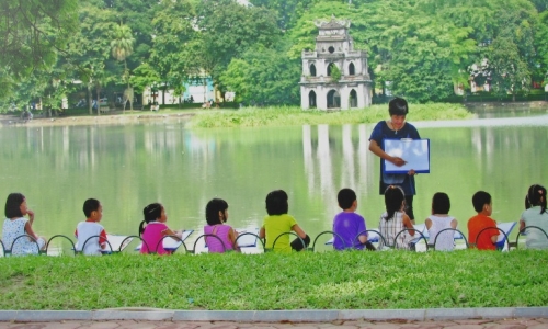
[[[367,321],[336,320],[331,322],[232,322],[232,321],[53,321],[53,322],[0,322],[0,329],[541,329],[548,328],[548,318],[516,318],[503,320],[453,320],[453,321]]]

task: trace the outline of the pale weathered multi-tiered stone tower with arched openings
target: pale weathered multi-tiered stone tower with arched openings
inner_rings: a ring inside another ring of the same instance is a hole
[[[304,110],[363,109],[372,104],[367,52],[354,50],[350,21],[316,21],[313,52],[302,50],[300,105]]]

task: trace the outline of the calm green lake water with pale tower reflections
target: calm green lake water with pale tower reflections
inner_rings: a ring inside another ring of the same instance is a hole
[[[492,115],[490,115],[492,116]],[[517,220],[527,188],[548,184],[548,115],[459,122],[409,121],[431,139],[431,173],[416,179],[415,216],[443,191],[466,231],[471,195],[493,195],[493,218]],[[22,192],[39,235],[72,236],[82,204],[99,198],[109,232],[136,234],[141,211],[161,202],[174,229],[201,231],[213,197],[229,203],[229,224],[259,227],[264,197],[289,194],[289,213],[315,237],[331,228],[336,192],[352,188],[375,228],[384,211],[374,125],[189,131],[183,123],[126,126],[1,127],[0,196]],[[514,230],[514,236],[515,236]],[[197,237],[196,234],[193,237]],[[191,239],[192,240],[192,239]]]

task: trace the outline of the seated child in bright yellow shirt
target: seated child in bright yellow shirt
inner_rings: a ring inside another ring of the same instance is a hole
[[[310,245],[310,237],[299,227],[293,216],[287,215],[289,209],[287,198],[287,193],[283,190],[272,191],[266,195],[266,213],[269,216],[264,218],[259,231],[260,238],[266,238],[266,249],[273,249],[274,247],[274,251],[290,252],[292,249],[300,251]],[[292,230],[300,239],[296,238],[289,243],[289,235],[286,232]],[[276,240],[276,246],[273,246],[274,240]],[[305,246],[302,246],[302,242],[305,242]]]

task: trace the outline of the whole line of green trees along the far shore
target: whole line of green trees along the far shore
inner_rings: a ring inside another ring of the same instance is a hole
[[[375,90],[389,81],[414,102],[470,90],[470,77],[495,94],[527,94],[548,68],[546,0],[244,2],[4,0],[0,102],[42,98],[59,109],[75,90],[91,101],[151,84],[182,94],[185,82],[209,76],[239,102],[298,104],[300,54],[315,48],[313,22],[332,15],[351,20]]]

